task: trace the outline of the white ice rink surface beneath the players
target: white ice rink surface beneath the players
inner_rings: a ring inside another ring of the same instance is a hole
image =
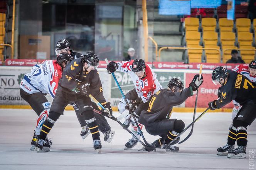
[[[249,150],[256,150],[254,121],[248,127],[245,160],[217,156],[216,149],[227,142],[231,114],[206,113],[195,123],[193,135],[176,145],[180,147],[178,153],[139,152],[140,143],[132,150],[123,150],[131,136],[118,123],[108,119],[116,132],[115,137],[107,143],[101,133],[102,149],[98,154],[93,148],[91,135],[84,140],[80,137],[81,127],[75,112],[65,111],[48,135],[53,140],[50,152],[37,153],[29,150],[36,117],[33,110],[0,109],[0,170],[241,170],[249,168]],[[184,120],[185,127],[192,117],[192,113],[172,114],[172,118]],[[143,132],[149,143],[158,138],[149,135],[144,128]],[[190,129],[181,140],[189,132]],[[255,160],[255,152],[253,157]],[[253,168],[256,169],[255,161]]]

